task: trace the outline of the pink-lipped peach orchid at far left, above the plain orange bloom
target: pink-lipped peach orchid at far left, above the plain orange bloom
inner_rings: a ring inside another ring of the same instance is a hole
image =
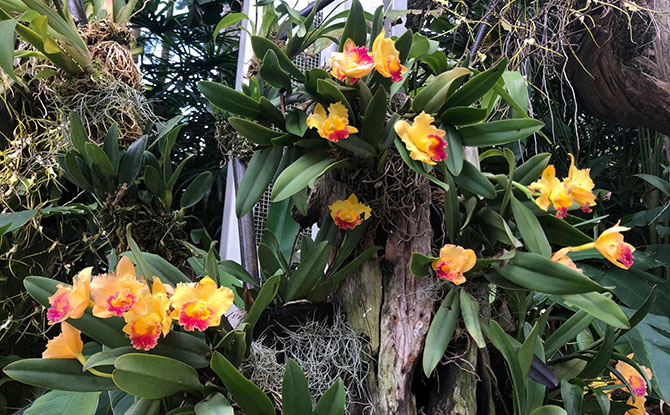
[[[68,318],[80,318],[91,302],[90,283],[92,268],[85,268],[74,277],[72,286],[58,284],[58,289],[49,297],[47,319],[49,324],[60,323]]]

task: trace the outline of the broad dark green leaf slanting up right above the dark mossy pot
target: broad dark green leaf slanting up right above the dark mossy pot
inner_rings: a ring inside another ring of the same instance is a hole
[[[329,257],[330,243],[323,241],[318,243],[307,257],[301,258],[300,265],[288,279],[284,300],[306,298],[312,287],[323,277]]]

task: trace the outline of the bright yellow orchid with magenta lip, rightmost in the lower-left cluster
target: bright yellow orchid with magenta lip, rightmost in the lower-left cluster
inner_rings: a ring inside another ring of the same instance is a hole
[[[218,287],[214,280],[205,277],[197,283],[177,284],[170,303],[171,314],[187,331],[218,326],[223,313],[233,304],[233,292],[226,287]]]

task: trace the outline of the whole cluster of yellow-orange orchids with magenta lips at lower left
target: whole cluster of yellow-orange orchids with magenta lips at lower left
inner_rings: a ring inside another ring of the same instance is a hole
[[[91,276],[86,268],[71,286],[59,284],[49,297],[49,324],[61,323],[62,333],[47,344],[45,358],[73,358],[81,353],[79,331],[66,323],[84,315],[89,307],[98,318],[123,317],[134,348],[151,350],[165,337],[173,320],[186,331],[205,331],[218,326],[233,303],[234,294],[204,277],[198,282],[178,283],[174,288],[154,277],[151,284],[135,273],[130,259],[122,257],[115,272]],[[77,351],[78,350],[78,351]]]

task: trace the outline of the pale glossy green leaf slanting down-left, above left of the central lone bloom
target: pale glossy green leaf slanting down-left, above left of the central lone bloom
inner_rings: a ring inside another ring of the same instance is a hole
[[[335,163],[327,152],[316,150],[293,162],[277,177],[272,187],[272,201],[279,202],[298,193]]]

